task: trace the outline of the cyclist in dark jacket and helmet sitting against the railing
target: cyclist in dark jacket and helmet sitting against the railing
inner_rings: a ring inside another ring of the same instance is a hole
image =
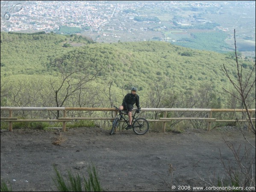
[[[138,94],[136,92],[137,92],[137,88],[132,87],[131,93],[128,93],[126,96],[124,96],[123,103],[119,107],[120,110],[128,111],[129,125],[127,126],[127,128],[125,128],[126,130],[132,128],[132,109],[133,109],[133,105],[135,104],[137,106],[138,110],[141,109],[141,107],[140,107],[140,97],[138,96]]]

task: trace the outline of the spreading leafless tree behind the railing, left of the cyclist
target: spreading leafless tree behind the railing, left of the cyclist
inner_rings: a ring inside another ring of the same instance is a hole
[[[59,72],[59,81],[50,79],[56,107],[62,107],[68,98],[86,89],[85,84],[94,80],[102,70],[101,66],[87,61],[82,55],[65,55],[62,58],[56,58],[52,66],[56,67]],[[57,111],[58,117],[59,111]]]

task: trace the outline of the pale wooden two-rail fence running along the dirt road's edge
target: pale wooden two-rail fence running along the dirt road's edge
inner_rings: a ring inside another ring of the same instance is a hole
[[[1,116],[1,121],[9,122],[9,131],[12,131],[12,122],[62,122],[62,131],[66,131],[66,122],[72,120],[114,120],[113,117],[67,117],[67,111],[114,111],[114,108],[71,108],[71,107],[1,107],[1,111],[9,111],[9,116]],[[12,111],[63,111],[63,117],[58,119],[18,119],[12,116]],[[147,119],[149,122],[162,122],[162,131],[165,132],[166,122],[173,120],[204,120],[208,122],[208,131],[211,130],[212,122],[248,122],[248,119],[216,119],[212,118],[213,112],[246,112],[245,109],[186,109],[186,108],[141,108],[141,111],[163,112],[163,117],[159,119]],[[207,112],[207,117],[174,117],[167,118],[167,113],[175,112]],[[251,119],[255,121],[255,109],[249,109]],[[254,117],[253,117],[254,112]],[[2,113],[1,113],[2,114]],[[250,128],[250,124],[248,125]]]

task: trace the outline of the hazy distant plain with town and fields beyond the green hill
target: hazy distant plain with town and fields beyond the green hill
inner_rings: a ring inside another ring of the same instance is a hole
[[[255,46],[255,1],[1,1],[1,32],[87,35],[94,41],[177,41],[236,27]],[[179,34],[179,35],[177,35]]]

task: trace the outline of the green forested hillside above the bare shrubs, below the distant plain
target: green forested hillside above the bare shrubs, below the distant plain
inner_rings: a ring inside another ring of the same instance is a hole
[[[57,86],[58,81],[62,79],[58,63],[64,66],[62,69],[67,70],[67,73],[74,68],[90,64],[84,74],[88,77],[93,76],[95,71],[99,70],[97,78],[88,82],[90,89],[98,90],[94,94],[94,99],[97,99],[96,95],[100,95],[101,98],[104,97],[104,94],[107,98],[109,89],[115,96],[114,102],[118,102],[115,105],[119,105],[123,95],[129,92],[130,87],[138,87],[143,107],[154,106],[150,105],[153,102],[150,98],[155,97],[154,94],[160,88],[161,94],[166,100],[157,107],[171,107],[167,103],[174,101],[176,107],[184,107],[182,106],[182,103],[185,103],[184,99],[191,100],[194,97],[198,100],[197,97],[200,98],[198,94],[205,94],[206,90],[209,90],[212,95],[208,98],[212,103],[213,99],[215,102],[217,99],[221,99],[227,104],[228,96],[223,87],[231,90],[232,86],[221,68],[225,65],[232,74],[232,78],[236,78],[237,73],[234,53],[224,55],[180,47],[167,42],[143,41],[106,44],[94,43],[77,35],[56,35],[54,33],[18,35],[4,32],[1,32],[0,41],[1,106],[22,106],[21,103],[8,103],[6,99],[3,99],[5,98],[3,96],[4,87],[11,82],[13,87],[15,84],[17,87],[29,87],[29,85],[26,86],[26,82],[31,84],[31,81],[33,83],[35,81],[44,82],[46,84],[44,89]],[[64,44],[68,46],[63,46]],[[239,58],[239,62],[246,71],[252,69],[255,61],[249,58]],[[82,75],[76,76],[77,81],[82,78]],[[50,83],[53,82],[52,79],[59,79],[56,80],[54,86],[53,83]],[[44,90],[44,92],[48,91]],[[50,93],[50,90],[47,94],[54,95],[54,93]],[[100,102],[102,101],[100,99]],[[26,103],[24,102],[23,105]],[[94,103],[100,105],[99,101]],[[38,105],[40,106],[41,102]],[[47,105],[55,106],[50,102]],[[71,104],[70,100],[66,100],[63,105],[77,106],[78,104],[76,102]],[[103,104],[101,105],[103,106]],[[200,101],[197,101],[197,105],[200,105]],[[104,107],[109,107],[109,103]],[[191,103],[187,107],[218,106],[196,106]],[[221,107],[225,107],[225,104],[222,104]]]

